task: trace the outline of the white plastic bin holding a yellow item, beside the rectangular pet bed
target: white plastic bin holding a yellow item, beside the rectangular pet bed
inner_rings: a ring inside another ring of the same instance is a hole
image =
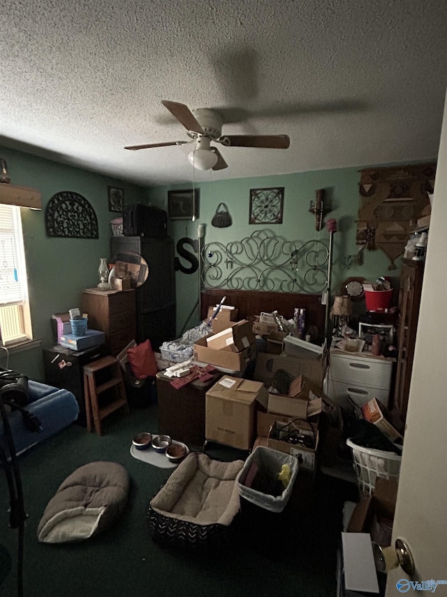
[[[270,477],[272,482],[277,479],[278,473],[281,472],[282,465],[289,465],[291,479],[280,496],[263,493],[262,491],[257,491],[253,487],[247,487],[244,484],[247,473],[251,470],[251,465],[253,464],[257,465],[258,474]],[[289,454],[283,454],[283,452],[277,450],[272,450],[271,448],[258,446],[245,461],[242,470],[239,475],[237,475],[236,483],[240,496],[245,500],[248,500],[264,510],[270,510],[270,512],[282,512],[292,495],[293,484],[295,483],[297,473],[298,458]]]

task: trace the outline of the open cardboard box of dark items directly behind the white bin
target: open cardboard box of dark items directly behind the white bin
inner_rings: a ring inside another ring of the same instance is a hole
[[[304,435],[312,447],[301,444],[293,444],[286,441],[291,435]],[[267,436],[267,445],[273,450],[291,454],[298,458],[300,468],[303,470],[316,471],[316,453],[318,450],[318,426],[309,421],[274,421]]]

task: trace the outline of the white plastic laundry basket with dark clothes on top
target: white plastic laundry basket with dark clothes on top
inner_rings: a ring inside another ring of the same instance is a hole
[[[377,477],[399,480],[402,456],[394,452],[365,448],[349,439],[346,444],[352,449],[358,489],[363,497],[367,498],[374,493]]]

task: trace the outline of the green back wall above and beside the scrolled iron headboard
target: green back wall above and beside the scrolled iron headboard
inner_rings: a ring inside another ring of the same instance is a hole
[[[230,181],[196,183],[200,188],[200,216],[195,222],[171,220],[170,234],[177,241],[182,237],[197,238],[197,228],[205,223],[205,244],[230,241],[248,237],[257,229],[268,229],[277,237],[290,241],[304,242],[319,239],[328,243],[329,233],[325,226],[321,232],[315,230],[314,216],[309,212],[310,202],[316,198],[316,190],[325,190],[325,200],[330,209],[325,220],[337,220],[337,232],[334,234],[333,270],[331,294],[340,291],[341,282],[351,276],[364,276],[375,281],[379,276],[397,277],[400,261],[396,260],[397,269],[388,271],[389,261],[382,251],[363,251],[363,265],[357,265],[356,255],[356,220],[359,206],[358,183],[360,174],[357,168],[320,170],[297,174],[281,174],[258,178],[235,178]],[[251,188],[284,187],[283,223],[276,225],[250,225],[249,199]],[[164,209],[168,209],[168,190],[192,188],[191,184],[149,188],[149,199]],[[233,225],[228,228],[212,227],[211,219],[220,202],[227,204],[233,217]],[[351,256],[350,267],[345,267],[346,259]],[[198,275],[177,272],[177,332],[181,332],[184,323],[186,329],[197,325],[198,313],[191,319],[189,314],[198,298]],[[396,282],[397,284],[397,282]],[[179,293],[179,289],[182,292]],[[364,308],[364,303],[362,303]],[[361,308],[361,307],[360,307]]]

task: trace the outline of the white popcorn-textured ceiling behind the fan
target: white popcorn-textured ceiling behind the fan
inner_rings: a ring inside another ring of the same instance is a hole
[[[3,0],[0,145],[142,184],[432,159],[446,0]],[[217,108],[226,148],[194,171],[161,104]]]

